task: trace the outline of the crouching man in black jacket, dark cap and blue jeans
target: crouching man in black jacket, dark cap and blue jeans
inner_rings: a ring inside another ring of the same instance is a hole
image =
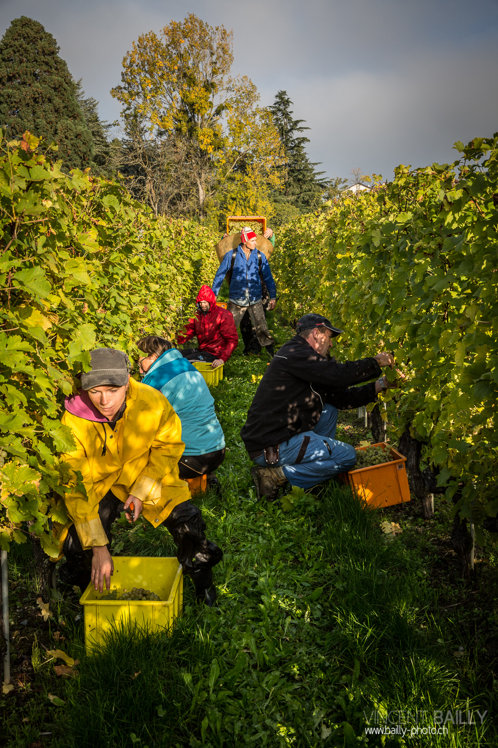
[[[335,439],[337,410],[375,402],[387,390],[380,367],[394,361],[388,353],[346,364],[327,358],[341,332],[326,317],[306,314],[261,379],[240,432],[257,466],[251,474],[260,499],[275,499],[287,481],[311,488],[355,465],[354,447]]]

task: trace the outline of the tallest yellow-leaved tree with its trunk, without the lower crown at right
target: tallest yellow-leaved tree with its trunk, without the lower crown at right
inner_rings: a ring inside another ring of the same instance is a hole
[[[232,60],[231,32],[190,13],[183,22],[164,26],[161,36],[149,31],[138,37],[123,59],[122,85],[111,91],[124,105],[125,119],[136,112],[150,135],[176,133],[190,143],[200,212],[212,154],[222,144],[221,114],[231,92]]]

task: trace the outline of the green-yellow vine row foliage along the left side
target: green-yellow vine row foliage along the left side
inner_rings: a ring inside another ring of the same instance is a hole
[[[217,269],[217,240],[199,224],[161,218],[116,183],[60,171],[25,133],[0,156],[0,542],[25,523],[57,555],[49,518],[78,479],[57,453],[73,373],[96,345],[134,352],[137,336],[172,336]]]

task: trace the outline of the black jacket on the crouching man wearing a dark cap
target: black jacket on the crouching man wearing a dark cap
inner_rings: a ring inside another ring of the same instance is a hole
[[[259,383],[240,432],[246,450],[275,447],[311,431],[326,402],[342,410],[374,402],[375,382],[348,387],[380,375],[375,358],[338,364],[296,335],[279,349]]]

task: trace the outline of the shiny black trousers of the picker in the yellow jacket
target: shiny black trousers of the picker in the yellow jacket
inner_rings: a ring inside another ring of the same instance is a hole
[[[112,491],[108,491],[99,502],[99,518],[108,537],[108,551],[111,553],[111,525],[117,518],[122,503]],[[221,548],[205,536],[206,524],[202,512],[190,501],[184,501],[173,507],[162,523],[176,545],[176,557],[183,567],[184,574],[195,577],[195,572],[217,565],[222,560]],[[68,584],[77,584],[86,589],[90,583],[93,551],[84,551],[74,525],[69,528],[63,545],[66,563],[60,567],[60,579]]]

